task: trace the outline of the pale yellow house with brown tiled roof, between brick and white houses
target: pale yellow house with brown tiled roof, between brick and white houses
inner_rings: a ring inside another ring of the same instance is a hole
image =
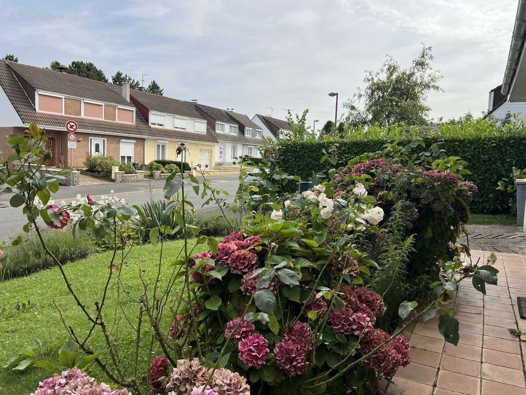
[[[213,166],[216,133],[193,103],[140,90],[130,90],[130,101],[151,129],[151,136],[144,142],[146,164],[154,160],[182,160],[190,166]],[[185,144],[187,152],[177,155],[180,144]]]

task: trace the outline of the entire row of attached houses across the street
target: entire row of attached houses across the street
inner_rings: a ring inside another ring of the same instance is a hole
[[[128,83],[118,86],[10,61],[0,61],[0,86],[0,156],[9,150],[5,135],[23,133],[36,122],[46,128],[51,165],[59,167],[72,164],[68,120],[78,124],[74,167],[83,167],[89,155],[107,155],[139,165],[182,160],[221,169],[241,155],[259,157],[263,137],[290,131],[288,122],[270,116],[250,119],[134,90]],[[181,143],[188,150],[177,156]]]

